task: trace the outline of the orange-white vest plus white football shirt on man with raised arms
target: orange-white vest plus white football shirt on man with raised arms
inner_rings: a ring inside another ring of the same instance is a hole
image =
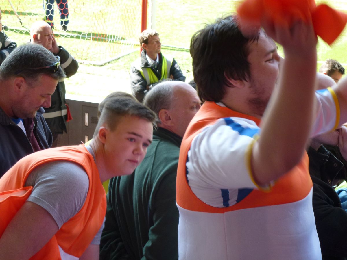
[[[335,93],[325,89],[316,96],[313,135],[339,121]],[[179,259],[321,259],[307,154],[270,190],[252,182],[259,123],[205,102],[189,124],[177,170]]]

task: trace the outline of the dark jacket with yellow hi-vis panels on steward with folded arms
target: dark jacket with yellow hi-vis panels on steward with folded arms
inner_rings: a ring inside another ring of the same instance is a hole
[[[158,55],[158,73],[148,63],[145,51],[141,52],[141,57],[136,59],[130,67],[129,74],[132,93],[140,102],[142,102],[144,95],[148,91],[147,86],[161,79],[169,78],[172,75],[174,80],[186,80],[174,58],[164,57],[162,53]]]

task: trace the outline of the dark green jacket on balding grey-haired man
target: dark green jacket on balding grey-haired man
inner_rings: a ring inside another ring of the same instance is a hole
[[[159,128],[135,172],[110,180],[100,259],[178,259],[176,173],[182,138]]]

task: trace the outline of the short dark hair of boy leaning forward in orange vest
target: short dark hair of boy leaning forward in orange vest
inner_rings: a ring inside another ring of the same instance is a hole
[[[156,115],[147,106],[138,102],[135,98],[114,96],[105,100],[103,104],[99,122],[94,131],[94,137],[98,135],[99,129],[103,124],[107,124],[111,131],[115,130],[120,119],[125,115],[137,116],[147,120],[153,124],[153,127],[156,127]]]

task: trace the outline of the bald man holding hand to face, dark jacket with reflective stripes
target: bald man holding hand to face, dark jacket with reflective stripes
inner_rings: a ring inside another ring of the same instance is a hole
[[[61,68],[64,69],[66,77],[75,75],[78,63],[73,56],[62,46],[58,46],[52,28],[44,21],[36,21],[30,30],[31,43],[38,43],[50,50],[55,56],[61,59]],[[69,116],[68,106],[65,101],[65,83],[59,81],[56,91],[52,95],[52,105],[45,109],[43,114],[53,135],[52,147],[58,146],[59,136],[66,132],[66,122]]]

